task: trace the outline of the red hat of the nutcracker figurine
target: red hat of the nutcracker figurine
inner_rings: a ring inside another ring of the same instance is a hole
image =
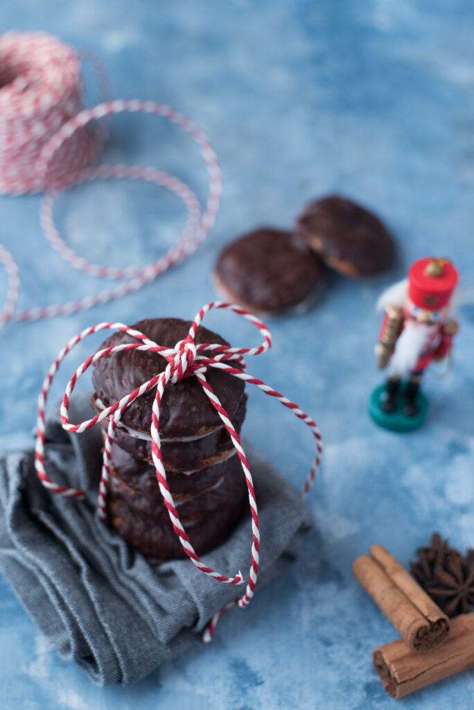
[[[408,272],[408,297],[426,310],[440,310],[448,305],[458,272],[447,259],[426,257],[412,263]]]

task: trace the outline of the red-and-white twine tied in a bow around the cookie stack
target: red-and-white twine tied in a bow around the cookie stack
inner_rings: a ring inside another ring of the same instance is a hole
[[[263,335],[263,343],[255,348],[236,348],[230,346],[224,346],[219,344],[197,344],[194,342],[196,337],[197,329],[201,324],[204,315],[206,315],[212,308],[227,309],[235,312],[241,317],[253,323],[255,327],[258,328],[260,334]],[[316,475],[316,470],[319,467],[319,462],[321,460],[321,435],[319,433],[319,428],[316,422],[305,414],[298,405],[294,404],[291,400],[287,399],[284,395],[272,389],[270,386],[266,385],[263,381],[258,378],[252,377],[241,368],[236,368],[233,366],[236,363],[243,364],[244,355],[259,355],[266,350],[268,350],[272,344],[270,331],[265,327],[265,324],[259,320],[255,315],[252,315],[247,310],[233,305],[232,303],[225,302],[213,302],[205,305],[199,313],[197,313],[194,318],[192,326],[189,328],[189,334],[187,337],[178,342],[174,348],[169,348],[165,346],[160,346],[159,344],[153,342],[153,340],[148,339],[145,334],[138,332],[122,323],[99,323],[92,327],[86,328],[77,336],[72,338],[70,342],[63,347],[57,354],[57,357],[53,364],[50,366],[45,381],[43,382],[43,387],[41,388],[40,395],[38,398],[38,421],[37,421],[37,435],[35,442],[35,468],[40,481],[43,485],[48,488],[53,493],[60,493],[63,496],[69,496],[70,498],[82,498],[84,491],[77,488],[69,488],[67,486],[60,486],[51,481],[48,473],[45,470],[45,460],[44,460],[44,449],[45,449],[45,404],[48,398],[48,392],[50,390],[53,377],[59,368],[61,361],[65,358],[67,353],[79,342],[84,340],[88,335],[92,333],[97,333],[101,330],[120,330],[128,334],[133,342],[126,344],[120,344],[115,346],[109,346],[107,348],[97,351],[94,355],[89,356],[80,365],[75,373],[72,375],[65,394],[62,398],[62,405],[60,410],[62,426],[68,432],[80,433],[91,429],[99,422],[107,419],[109,421],[109,427],[107,430],[106,440],[104,444],[104,457],[102,461],[102,473],[101,481],[99,485],[99,498],[98,498],[98,510],[99,516],[102,520],[106,520],[106,496],[109,484],[109,466],[111,463],[111,448],[114,442],[116,428],[120,424],[121,417],[125,412],[126,408],[131,405],[137,398],[143,395],[145,392],[150,391],[155,388],[155,399],[153,400],[152,409],[152,423],[150,428],[151,437],[151,447],[152,447],[152,457],[153,464],[155,465],[156,477],[158,480],[158,486],[162,494],[163,501],[167,508],[168,514],[170,515],[170,520],[175,533],[180,538],[181,545],[183,547],[186,555],[192,560],[195,566],[207,574],[209,577],[213,577],[216,581],[221,581],[224,584],[242,584],[243,576],[239,571],[233,577],[227,577],[221,572],[216,572],[214,569],[207,567],[204,562],[199,559],[194,547],[192,547],[189,537],[180,520],[180,515],[177,511],[175,503],[170,492],[170,488],[167,484],[166,471],[163,465],[162,454],[161,454],[161,444],[160,444],[160,403],[162,400],[163,392],[168,383],[176,383],[180,380],[194,376],[197,378],[201,384],[204,393],[206,393],[209,401],[213,405],[216,412],[219,414],[221,421],[226,427],[228,434],[231,437],[233,446],[236,449],[236,454],[241,461],[241,466],[243,473],[246,477],[246,484],[248,488],[248,501],[250,503],[250,513],[251,513],[251,525],[252,525],[252,548],[251,548],[251,564],[250,571],[248,575],[248,581],[246,585],[246,590],[242,596],[240,596],[236,601],[222,608],[214,618],[209,621],[209,624],[204,631],[203,641],[207,643],[211,640],[214,633],[214,628],[216,623],[219,621],[220,616],[224,613],[225,609],[233,604],[237,604],[241,608],[244,608],[250,603],[255,591],[255,584],[257,582],[258,575],[258,562],[259,562],[259,547],[260,547],[260,531],[258,527],[258,508],[257,501],[255,500],[255,491],[253,489],[253,479],[250,473],[250,466],[248,464],[246,454],[243,450],[241,439],[238,436],[235,428],[232,425],[231,418],[228,413],[221,405],[219,398],[213,391],[209,382],[206,379],[206,371],[208,368],[217,368],[222,370],[233,377],[237,377],[248,384],[252,384],[260,388],[266,395],[270,397],[275,397],[282,405],[292,410],[294,415],[296,415],[300,420],[302,420],[309,428],[312,430],[315,444],[316,444],[316,454],[312,467],[307,476],[307,480],[302,488],[302,495],[305,495],[309,491],[312,482],[314,481],[314,476]],[[70,395],[74,391],[78,379],[84,374],[84,372],[99,359],[109,356],[110,354],[124,351],[124,350],[140,350],[151,353],[159,353],[162,357],[167,360],[167,366],[164,372],[158,373],[154,377],[150,378],[147,382],[144,382],[140,387],[136,388],[133,392],[118,400],[110,407],[105,408],[100,414],[95,415],[92,419],[81,422],[80,424],[72,424],[69,419],[69,402]]]

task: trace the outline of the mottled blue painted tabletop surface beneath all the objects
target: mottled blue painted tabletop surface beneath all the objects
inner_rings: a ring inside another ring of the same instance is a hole
[[[257,224],[290,226],[305,200],[337,190],[382,214],[402,246],[392,274],[370,283],[334,277],[309,314],[272,322],[274,348],[249,367],[314,415],[324,435],[324,468],[309,497],[316,528],[292,571],[222,621],[209,648],[126,689],[97,689],[61,662],[0,579],[2,708],[392,707],[371,652],[396,633],[353,581],[351,563],[377,541],[407,564],[435,529],[461,548],[474,543],[473,5],[4,0],[1,21],[95,50],[114,97],[158,99],[192,116],[216,146],[225,190],[209,239],[180,268],[110,305],[0,333],[0,449],[30,441],[40,383],[65,339],[99,320],[191,317],[214,297],[211,266],[236,234]],[[204,195],[194,146],[158,119],[114,119],[107,154],[170,170]],[[45,244],[38,205],[38,197],[0,199],[0,239],[21,268],[21,306],[98,290]],[[57,215],[80,253],[125,266],[150,261],[172,242],[181,209],[158,188],[123,182],[73,190]],[[451,378],[427,378],[426,426],[402,437],[366,415],[378,381],[374,302],[430,252],[448,254],[461,270],[461,333]],[[0,297],[4,289],[0,273]],[[234,344],[255,343],[243,322],[208,323]],[[98,343],[65,364],[56,395]],[[301,484],[311,437],[277,403],[250,397],[246,437]],[[461,710],[473,697],[467,672],[403,706]]]

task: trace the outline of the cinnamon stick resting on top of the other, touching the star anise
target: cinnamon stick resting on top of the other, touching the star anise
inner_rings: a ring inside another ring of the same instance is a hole
[[[413,651],[430,650],[446,638],[446,614],[385,547],[372,545],[370,556],[360,555],[352,571]]]

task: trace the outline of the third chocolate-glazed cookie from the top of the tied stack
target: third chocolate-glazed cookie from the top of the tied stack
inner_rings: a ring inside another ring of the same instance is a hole
[[[245,476],[237,456],[196,474],[170,474],[167,479],[183,521],[203,520],[216,508],[228,505],[236,492],[246,488]],[[126,484],[112,467],[109,500],[111,506],[114,501],[123,501],[130,510],[154,523],[169,520],[154,470],[142,474],[133,484]]]

